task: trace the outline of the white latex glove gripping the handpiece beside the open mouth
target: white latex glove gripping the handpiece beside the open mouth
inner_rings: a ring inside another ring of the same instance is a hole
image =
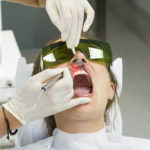
[[[71,100],[74,95],[71,74],[67,68],[59,68],[47,69],[29,78],[17,91],[16,96],[6,104],[3,104],[3,107],[22,124],[25,124],[41,88],[45,85],[44,81],[61,72],[63,72],[63,78],[58,80],[42,95],[31,121],[56,114],[79,104],[88,103],[90,101],[89,98]]]

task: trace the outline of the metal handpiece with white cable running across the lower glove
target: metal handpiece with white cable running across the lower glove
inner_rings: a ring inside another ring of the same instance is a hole
[[[27,128],[27,126],[28,126],[28,124],[29,124],[29,122],[30,122],[30,119],[31,119],[31,117],[32,117],[32,115],[33,115],[33,113],[34,113],[34,111],[35,111],[35,108],[36,108],[37,104],[38,104],[39,101],[40,101],[41,96],[43,95],[43,93],[44,93],[48,88],[50,88],[51,86],[53,86],[53,85],[54,85],[60,78],[62,78],[62,77],[63,77],[63,73],[60,73],[60,74],[56,75],[55,77],[53,77],[52,79],[50,79],[50,81],[49,81],[45,86],[43,86],[43,87],[41,88],[41,92],[40,92],[39,96],[37,97],[37,99],[35,100],[34,106],[33,106],[33,108],[32,108],[31,113],[30,113],[29,116],[28,116],[28,119],[27,119],[27,121],[26,121],[26,124],[24,125],[23,129],[21,130],[20,136],[19,136],[19,138],[17,139],[17,142],[16,142],[16,145],[15,145],[14,150],[17,150],[18,145],[19,145],[19,143],[20,143],[20,140],[21,140],[21,138],[22,138],[22,136],[23,136],[23,133],[24,133],[24,131],[26,130],[26,128]]]

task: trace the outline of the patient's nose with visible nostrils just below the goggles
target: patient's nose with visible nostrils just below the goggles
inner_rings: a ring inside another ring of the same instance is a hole
[[[71,65],[77,64],[78,67],[82,67],[87,62],[88,60],[80,51],[77,51],[75,56],[71,59]]]

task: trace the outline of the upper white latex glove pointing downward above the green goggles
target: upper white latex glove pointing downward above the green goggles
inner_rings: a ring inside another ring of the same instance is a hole
[[[46,10],[68,48],[78,46],[82,28],[86,32],[94,20],[94,10],[87,0],[46,0]],[[87,18],[83,25],[84,13]]]

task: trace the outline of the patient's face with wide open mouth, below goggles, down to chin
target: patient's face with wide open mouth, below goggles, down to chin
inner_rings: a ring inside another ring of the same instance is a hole
[[[73,98],[89,97],[91,102],[56,114],[56,120],[59,118],[71,120],[103,118],[107,101],[114,96],[114,85],[110,81],[105,65],[88,61],[80,51],[77,51],[77,57],[84,61],[84,66],[78,72],[72,71],[75,58],[57,67],[70,69],[74,85]]]

